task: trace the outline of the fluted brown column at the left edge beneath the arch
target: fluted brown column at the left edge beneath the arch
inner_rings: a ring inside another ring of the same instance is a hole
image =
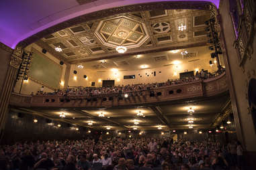
[[[21,62],[18,57],[21,50],[11,50],[10,48],[3,48],[3,44],[0,46],[0,51],[5,52],[1,53],[1,62],[9,63],[7,66],[2,66],[3,71],[6,72],[5,77],[2,78],[3,86],[0,92],[0,141],[3,137],[3,131],[5,129],[5,120],[7,118],[7,114],[9,112],[9,99],[11,96],[11,92],[13,90],[13,86],[15,84],[17,69],[19,68],[19,64]],[[3,55],[3,56],[2,56]],[[5,61],[3,61],[5,60]],[[6,61],[7,60],[7,61]]]

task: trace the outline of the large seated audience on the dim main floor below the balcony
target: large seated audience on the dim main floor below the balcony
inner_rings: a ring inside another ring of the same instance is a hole
[[[242,155],[241,155],[242,153]],[[37,141],[0,147],[0,169],[241,169],[240,143],[173,139]]]

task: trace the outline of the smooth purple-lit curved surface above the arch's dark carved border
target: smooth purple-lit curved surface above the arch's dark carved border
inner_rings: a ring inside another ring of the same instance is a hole
[[[0,15],[2,17],[0,17],[0,41],[14,49],[20,41],[44,29],[48,29],[53,25],[80,15],[125,5],[160,1],[161,0],[114,0],[106,1],[106,3],[103,1],[94,1],[93,3],[78,5],[76,0],[1,0]],[[187,1],[193,2],[194,0]],[[220,3],[220,0],[198,1],[211,2],[216,5],[217,8]]]

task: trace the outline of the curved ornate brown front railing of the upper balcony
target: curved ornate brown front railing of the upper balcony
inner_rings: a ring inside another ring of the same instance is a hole
[[[195,98],[203,96],[215,96],[228,90],[225,73],[206,80],[194,80],[181,84],[159,86],[136,92],[116,92],[97,95],[42,95],[28,96],[13,93],[10,104],[22,107],[102,107],[102,106],[131,106],[139,104],[155,104]],[[124,94],[128,93],[128,97]]]

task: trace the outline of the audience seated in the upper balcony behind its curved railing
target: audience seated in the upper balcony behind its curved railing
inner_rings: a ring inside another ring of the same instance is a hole
[[[224,72],[224,70],[222,70]],[[167,80],[167,82],[162,83],[148,83],[148,84],[128,84],[126,86],[108,86],[108,87],[75,87],[71,88],[68,86],[67,89],[58,89],[54,92],[44,92],[44,86],[40,88],[40,91],[36,92],[36,95],[57,95],[57,96],[95,96],[101,94],[123,94],[129,92],[142,92],[145,90],[153,90],[154,88],[161,86],[171,86],[174,84],[183,84],[198,80],[204,80],[206,78],[212,78],[218,76],[222,72],[217,72],[215,74],[210,74],[204,69],[200,72],[196,72],[196,76],[188,78],[180,78],[175,80]],[[32,95],[35,95],[32,92]]]

